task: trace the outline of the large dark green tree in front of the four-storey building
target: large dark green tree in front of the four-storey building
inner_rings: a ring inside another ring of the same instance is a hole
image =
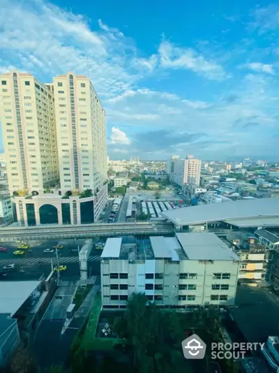
[[[127,312],[119,323],[133,346],[134,372],[139,373],[192,373],[190,363],[181,353],[185,338],[183,314],[166,312],[148,302],[144,294],[134,294],[127,305]]]

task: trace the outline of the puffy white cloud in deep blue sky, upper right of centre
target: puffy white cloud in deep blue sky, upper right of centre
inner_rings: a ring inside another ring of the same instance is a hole
[[[226,77],[222,66],[215,61],[207,61],[193,49],[175,47],[169,41],[163,41],[158,51],[160,65],[164,68],[184,68],[212,80],[223,80]]]

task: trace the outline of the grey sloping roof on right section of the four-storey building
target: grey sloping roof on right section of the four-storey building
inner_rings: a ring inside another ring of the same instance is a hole
[[[192,261],[239,261],[239,257],[214,233],[176,233]]]

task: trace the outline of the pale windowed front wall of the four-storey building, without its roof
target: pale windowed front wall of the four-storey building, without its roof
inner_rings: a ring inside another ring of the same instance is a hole
[[[111,279],[110,273],[128,273],[128,279]],[[154,274],[153,278],[146,279],[146,273]],[[155,274],[162,273],[163,278],[156,279]],[[186,279],[181,278],[183,274]],[[149,297],[162,295],[162,300],[153,298],[156,305],[234,305],[238,275],[239,263],[234,261],[105,260],[101,262],[103,305],[118,308],[126,302],[111,300],[110,295],[132,293],[145,293]],[[128,284],[128,289],[112,290],[110,284]],[[146,284],[153,284],[153,288],[146,289]],[[162,289],[156,289],[156,284],[161,284]],[[212,299],[212,295],[218,299]],[[223,300],[222,296],[227,299]]]

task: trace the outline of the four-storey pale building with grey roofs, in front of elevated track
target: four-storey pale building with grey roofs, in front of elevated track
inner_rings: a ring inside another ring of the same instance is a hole
[[[160,307],[234,305],[239,257],[213,233],[176,233],[124,244],[108,238],[101,255],[104,309],[126,308],[133,293]]]

